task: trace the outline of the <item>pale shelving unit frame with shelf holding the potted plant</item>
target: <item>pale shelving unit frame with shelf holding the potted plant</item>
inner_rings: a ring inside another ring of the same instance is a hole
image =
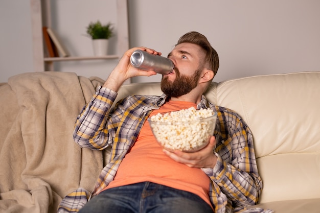
[[[107,0],[106,0],[107,1]],[[53,70],[53,62],[76,60],[108,60],[121,56],[88,56],[88,57],[44,57],[42,26],[51,27],[50,0],[30,0],[33,42],[33,66],[35,72]],[[117,0],[117,40],[118,52],[129,49],[127,0]]]

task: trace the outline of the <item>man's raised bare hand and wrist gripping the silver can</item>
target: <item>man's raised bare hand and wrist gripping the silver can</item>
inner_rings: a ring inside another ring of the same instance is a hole
[[[135,68],[130,63],[130,57],[132,53],[136,50],[146,51],[153,55],[161,55],[160,52],[155,50],[145,48],[141,46],[140,48],[132,48],[124,53],[120,59],[117,66],[112,70],[111,74],[103,84],[103,87],[107,87],[113,91],[118,92],[121,85],[129,78],[135,76],[154,76],[156,73],[154,71],[146,71],[142,69]]]

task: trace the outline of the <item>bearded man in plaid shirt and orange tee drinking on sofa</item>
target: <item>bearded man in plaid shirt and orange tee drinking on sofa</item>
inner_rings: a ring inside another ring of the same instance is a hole
[[[129,96],[111,108],[127,79],[156,75],[130,64],[135,50],[161,55],[144,47],[128,50],[77,117],[76,143],[98,150],[112,146],[111,158],[89,201],[73,206],[78,197],[67,196],[61,212],[232,212],[256,204],[262,181],[252,133],[236,112],[203,96],[219,67],[208,39],[198,32],[179,38],[168,55],[174,70],[162,78],[162,96]],[[194,153],[163,149],[148,117],[190,107],[217,112],[209,144]]]

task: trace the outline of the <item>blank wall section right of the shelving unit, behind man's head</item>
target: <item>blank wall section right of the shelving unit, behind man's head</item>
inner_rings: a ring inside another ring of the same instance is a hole
[[[200,4],[201,3],[201,4]],[[215,81],[320,70],[320,1],[130,1],[132,45],[165,55],[195,30],[220,58]]]

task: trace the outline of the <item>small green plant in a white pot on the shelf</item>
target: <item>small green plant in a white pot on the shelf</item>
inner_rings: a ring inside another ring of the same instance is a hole
[[[109,22],[102,25],[98,20],[90,22],[86,28],[86,33],[93,39],[93,48],[96,56],[107,55],[108,39],[113,36],[113,27]]]

